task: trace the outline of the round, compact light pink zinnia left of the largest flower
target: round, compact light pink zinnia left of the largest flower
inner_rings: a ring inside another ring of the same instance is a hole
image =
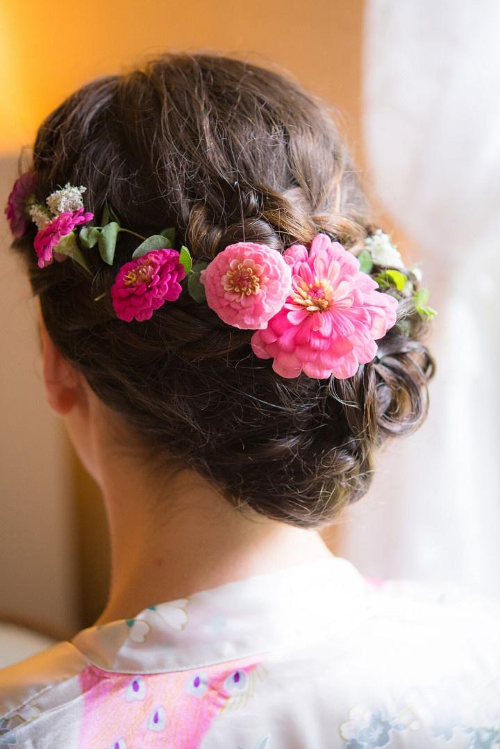
[[[201,271],[207,304],[225,323],[257,330],[284,304],[291,284],[283,255],[265,244],[238,242]]]

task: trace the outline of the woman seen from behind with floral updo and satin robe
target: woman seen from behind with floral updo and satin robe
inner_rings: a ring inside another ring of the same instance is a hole
[[[7,218],[112,584],[93,627],[1,673],[4,745],[498,742],[493,605],[366,580],[318,533],[433,374],[433,310],[326,109],[163,55],[49,115]]]

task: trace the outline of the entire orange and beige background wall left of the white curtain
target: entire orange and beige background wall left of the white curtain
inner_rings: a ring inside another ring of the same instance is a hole
[[[343,112],[359,154],[362,13],[362,0],[4,0],[1,200],[19,147],[32,141],[40,119],[64,96],[94,76],[168,49],[237,53],[289,70]],[[4,225],[0,240],[5,254]],[[13,258],[5,263],[0,612],[72,627],[90,623],[105,595],[103,512],[43,402],[28,291]],[[335,529],[327,535],[335,543]]]

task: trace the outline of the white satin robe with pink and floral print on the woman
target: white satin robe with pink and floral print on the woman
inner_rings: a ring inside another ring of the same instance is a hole
[[[486,748],[500,611],[341,557],[85,629],[0,671],[0,747]]]

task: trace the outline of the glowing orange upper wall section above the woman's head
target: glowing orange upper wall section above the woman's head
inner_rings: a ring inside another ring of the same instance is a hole
[[[216,49],[290,70],[359,132],[362,0],[3,0],[0,151],[74,88],[142,55]]]

